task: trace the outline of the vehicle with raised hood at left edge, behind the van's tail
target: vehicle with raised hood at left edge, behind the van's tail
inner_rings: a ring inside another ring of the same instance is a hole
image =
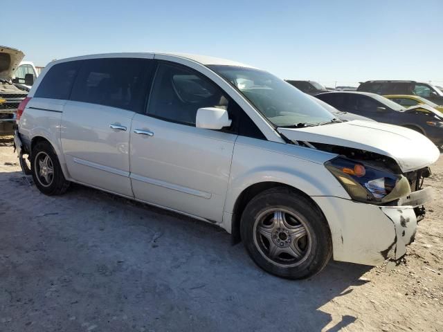
[[[26,87],[12,82],[23,57],[21,50],[0,46],[0,135],[14,133],[17,108],[28,95]]]

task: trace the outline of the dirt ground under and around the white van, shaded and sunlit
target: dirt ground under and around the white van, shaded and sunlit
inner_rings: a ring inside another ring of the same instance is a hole
[[[74,185],[48,197],[0,140],[0,331],[443,331],[443,158],[405,261],[300,282],[200,221]]]

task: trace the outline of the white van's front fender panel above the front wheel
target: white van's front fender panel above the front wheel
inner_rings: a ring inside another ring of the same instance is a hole
[[[324,165],[334,157],[333,154],[275,142],[251,143],[253,144],[235,143],[221,225],[228,232],[231,230],[235,202],[244,190],[257,183],[282,183],[308,196],[337,196],[350,199],[343,186]],[[273,146],[267,147],[267,143]],[[303,149],[300,154],[298,149]],[[313,155],[311,160],[309,153]]]

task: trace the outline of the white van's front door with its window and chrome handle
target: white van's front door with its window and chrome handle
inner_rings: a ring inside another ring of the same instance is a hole
[[[132,120],[130,161],[136,199],[221,221],[235,133],[195,127],[197,109],[228,98],[206,77],[161,62],[145,114]]]

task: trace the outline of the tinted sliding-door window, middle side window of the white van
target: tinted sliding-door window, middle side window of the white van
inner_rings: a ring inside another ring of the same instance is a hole
[[[129,111],[143,109],[151,60],[110,58],[82,62],[71,100]]]

